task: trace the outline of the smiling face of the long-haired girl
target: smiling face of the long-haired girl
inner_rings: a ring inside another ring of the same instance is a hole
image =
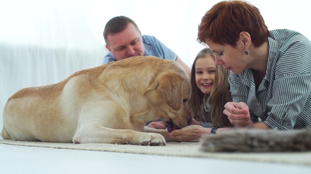
[[[215,81],[216,64],[212,56],[198,58],[195,62],[195,82],[204,94],[210,94]]]

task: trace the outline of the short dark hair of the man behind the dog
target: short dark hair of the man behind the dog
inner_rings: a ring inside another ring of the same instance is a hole
[[[115,33],[123,31],[129,23],[134,24],[134,26],[138,29],[138,26],[136,25],[136,23],[132,19],[126,16],[116,16],[116,17],[111,18],[106,23],[105,28],[104,28],[103,35],[104,35],[105,43],[109,45],[108,40],[107,40],[108,34],[115,34]]]

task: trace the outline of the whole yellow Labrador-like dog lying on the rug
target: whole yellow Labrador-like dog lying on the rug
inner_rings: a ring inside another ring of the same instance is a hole
[[[5,104],[4,139],[60,143],[165,145],[166,130],[192,124],[190,78],[173,60],[126,58],[73,73],[64,81],[24,88]]]

